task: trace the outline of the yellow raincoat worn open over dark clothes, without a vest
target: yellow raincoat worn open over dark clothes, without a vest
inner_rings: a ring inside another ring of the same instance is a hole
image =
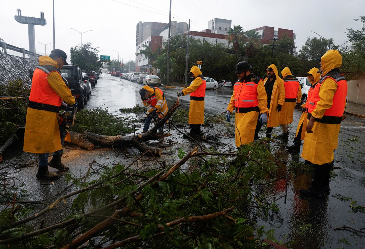
[[[273,92],[271,95],[270,101],[270,110],[269,110],[269,118],[268,118],[268,125],[267,127],[278,127],[279,126],[279,112],[277,111],[277,105],[284,105],[285,100],[285,88],[284,88],[284,81],[281,79],[277,73],[277,68],[274,64],[269,66],[274,70],[276,80],[273,86]],[[264,85],[268,81],[266,77],[264,80]]]

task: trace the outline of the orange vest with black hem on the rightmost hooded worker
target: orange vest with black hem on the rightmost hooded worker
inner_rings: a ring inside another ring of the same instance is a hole
[[[324,75],[322,79],[320,79],[320,81],[314,88],[312,96],[314,100],[316,99],[318,99],[318,101],[320,100],[319,89],[320,86],[322,85],[322,82],[327,77],[333,79],[337,83],[337,90],[333,96],[332,106],[324,112],[322,118],[315,118],[315,121],[324,124],[341,124],[347,96],[347,81],[346,78],[338,69],[330,71],[329,73]],[[317,105],[317,102],[315,103],[315,106]],[[312,115],[308,115],[308,118],[310,118],[311,116]]]

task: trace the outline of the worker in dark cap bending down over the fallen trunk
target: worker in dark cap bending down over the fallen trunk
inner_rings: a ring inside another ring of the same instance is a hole
[[[152,118],[163,118],[166,115],[168,108],[165,94],[158,87],[143,86],[141,90],[139,90],[139,95],[141,95],[143,105],[147,106],[147,116],[145,126],[143,127],[143,132],[146,132],[151,124]],[[164,125],[158,129],[158,132],[164,132]]]

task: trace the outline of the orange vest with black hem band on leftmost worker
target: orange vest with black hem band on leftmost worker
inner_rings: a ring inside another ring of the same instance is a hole
[[[49,85],[47,76],[59,71],[51,65],[37,66],[32,78],[28,107],[50,112],[59,112],[62,98]],[[59,74],[61,77],[61,74]]]

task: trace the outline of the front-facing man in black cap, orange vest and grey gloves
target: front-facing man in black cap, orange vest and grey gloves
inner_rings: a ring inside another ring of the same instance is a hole
[[[236,146],[252,143],[254,140],[257,119],[261,124],[267,122],[267,96],[264,81],[252,73],[253,67],[246,61],[236,65],[235,74],[238,81],[233,86],[233,94],[228,104],[226,118],[235,110]]]

